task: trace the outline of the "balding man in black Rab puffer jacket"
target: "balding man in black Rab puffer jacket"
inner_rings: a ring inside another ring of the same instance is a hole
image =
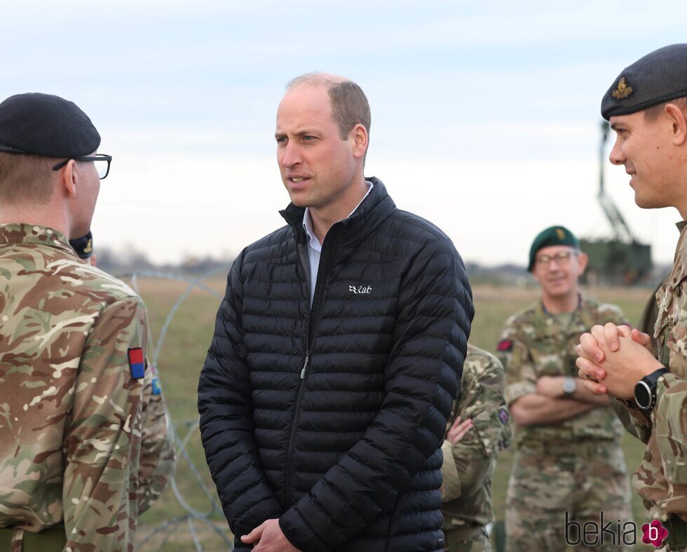
[[[330,74],[277,112],[287,225],[234,262],[200,431],[236,548],[440,551],[441,445],[472,321],[440,229],[365,180],[369,105]]]

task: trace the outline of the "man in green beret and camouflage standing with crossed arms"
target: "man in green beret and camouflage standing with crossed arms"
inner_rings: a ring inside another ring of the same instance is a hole
[[[577,540],[576,523],[599,523],[601,511],[605,520],[632,520],[622,424],[608,398],[576,384],[580,335],[594,324],[625,323],[615,305],[581,297],[586,264],[568,229],[542,231],[529,261],[542,298],[508,319],[498,343],[517,446],[506,504],[511,552],[562,551],[566,537]],[[576,549],[623,549],[608,539],[596,544]]]

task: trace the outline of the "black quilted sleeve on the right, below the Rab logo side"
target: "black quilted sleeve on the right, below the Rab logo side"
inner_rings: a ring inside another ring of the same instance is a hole
[[[422,248],[401,285],[386,397],[374,422],[280,518],[300,550],[332,551],[391,511],[397,493],[441,446],[474,312],[470,285],[443,237]]]

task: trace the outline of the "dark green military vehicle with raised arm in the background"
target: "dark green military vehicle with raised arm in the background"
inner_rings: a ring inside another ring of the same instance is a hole
[[[580,247],[589,255],[585,272],[586,283],[611,283],[632,285],[648,280],[653,264],[651,245],[640,243],[634,237],[627,222],[620,214],[613,200],[604,189],[604,166],[606,165],[606,141],[610,126],[601,125],[601,147],[599,147],[599,194],[597,199],[611,224],[612,238],[582,238]]]

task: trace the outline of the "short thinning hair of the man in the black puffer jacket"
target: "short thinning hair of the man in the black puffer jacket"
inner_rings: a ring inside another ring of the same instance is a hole
[[[291,90],[300,84],[327,88],[329,101],[332,103],[332,117],[339,126],[341,140],[346,140],[348,133],[358,124],[364,126],[369,135],[371,122],[369,102],[358,84],[328,73],[306,73],[290,81],[286,89]]]

